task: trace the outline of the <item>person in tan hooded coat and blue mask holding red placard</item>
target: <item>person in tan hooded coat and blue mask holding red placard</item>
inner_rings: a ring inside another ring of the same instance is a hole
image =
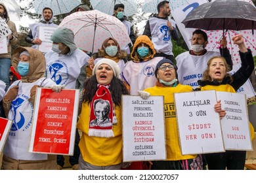
[[[12,54],[12,66],[21,75],[3,97],[5,116],[12,120],[11,130],[3,148],[4,170],[50,170],[56,169],[56,156],[28,152],[37,87],[53,88],[60,92],[61,86],[44,76],[45,57],[39,50],[18,47]]]

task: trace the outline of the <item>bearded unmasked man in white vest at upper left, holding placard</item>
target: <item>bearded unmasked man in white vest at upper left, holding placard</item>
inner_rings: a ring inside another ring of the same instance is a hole
[[[38,45],[42,43],[41,39],[38,38],[39,26],[58,27],[58,25],[53,23],[53,18],[53,10],[51,8],[45,7],[43,8],[42,20],[30,25],[30,31],[25,37],[25,41],[33,44],[32,48],[38,49]]]

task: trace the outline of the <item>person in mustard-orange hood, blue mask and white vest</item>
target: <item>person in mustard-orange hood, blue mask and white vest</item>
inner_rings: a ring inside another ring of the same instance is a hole
[[[139,90],[156,84],[155,68],[163,57],[156,57],[154,44],[146,35],[141,35],[135,41],[131,52],[132,61],[128,61],[123,69],[123,80],[131,95],[138,95]]]

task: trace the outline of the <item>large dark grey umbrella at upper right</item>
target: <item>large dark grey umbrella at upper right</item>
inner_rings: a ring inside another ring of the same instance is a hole
[[[256,29],[256,8],[245,1],[216,0],[204,3],[182,21],[187,28],[205,30]]]

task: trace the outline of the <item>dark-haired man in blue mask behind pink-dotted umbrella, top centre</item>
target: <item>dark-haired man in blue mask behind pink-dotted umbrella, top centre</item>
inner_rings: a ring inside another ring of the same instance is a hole
[[[133,44],[135,43],[135,34],[133,31],[133,24],[129,21],[127,21],[127,16],[124,15],[124,11],[125,11],[125,5],[123,4],[116,4],[114,6],[114,14],[113,16],[116,16],[116,18],[118,18],[121,22],[123,22],[123,25],[125,25],[126,29],[127,29],[127,33],[131,39],[131,42],[133,42]],[[121,50],[125,50],[125,52],[127,52],[127,54],[130,54],[130,47],[132,45],[128,44],[127,46],[121,48]]]

